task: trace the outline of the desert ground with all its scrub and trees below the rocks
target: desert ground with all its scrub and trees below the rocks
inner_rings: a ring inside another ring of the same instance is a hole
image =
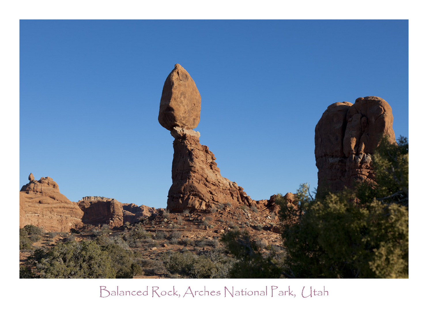
[[[372,159],[375,183],[323,196],[302,184],[293,202],[276,196],[278,214],[226,203],[205,214],[160,210],[113,229],[26,225],[20,277],[407,278],[407,139],[383,139]]]

